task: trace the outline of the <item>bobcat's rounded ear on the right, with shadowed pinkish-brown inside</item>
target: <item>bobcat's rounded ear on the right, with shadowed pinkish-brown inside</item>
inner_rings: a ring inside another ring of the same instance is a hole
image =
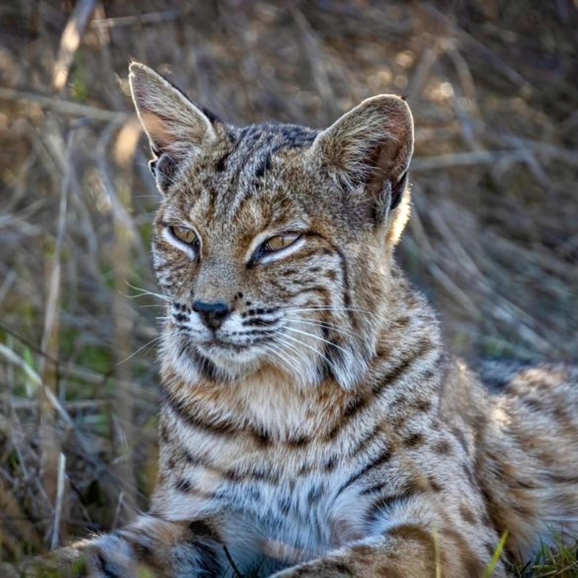
[[[413,118],[391,94],[368,98],[320,132],[312,151],[346,190],[363,191],[384,218],[402,200],[413,154]]]

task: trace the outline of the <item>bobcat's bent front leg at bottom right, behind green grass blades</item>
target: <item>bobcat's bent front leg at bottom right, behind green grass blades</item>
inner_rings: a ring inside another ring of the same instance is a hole
[[[491,553],[480,554],[455,529],[405,523],[273,578],[483,578]],[[492,575],[504,578],[501,562]]]

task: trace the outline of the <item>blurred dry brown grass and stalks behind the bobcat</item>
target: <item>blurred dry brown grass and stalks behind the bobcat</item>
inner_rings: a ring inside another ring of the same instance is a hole
[[[158,197],[131,58],[239,123],[407,95],[398,254],[450,346],[576,361],[577,29],[571,0],[2,2],[0,560],[115,527],[153,486],[162,307],[129,284],[155,290]]]

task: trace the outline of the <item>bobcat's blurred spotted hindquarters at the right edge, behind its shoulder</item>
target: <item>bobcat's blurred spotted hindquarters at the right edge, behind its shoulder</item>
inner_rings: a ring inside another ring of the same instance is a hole
[[[492,395],[478,468],[491,516],[529,556],[578,535],[578,369],[491,364]]]

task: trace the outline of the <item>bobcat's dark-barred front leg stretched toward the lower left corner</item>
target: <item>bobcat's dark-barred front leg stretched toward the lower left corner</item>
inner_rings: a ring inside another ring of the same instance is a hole
[[[90,578],[209,578],[226,567],[223,543],[210,521],[175,523],[144,514],[126,527],[57,553],[58,565]],[[146,575],[146,574],[145,574]],[[150,576],[150,573],[149,575]]]

